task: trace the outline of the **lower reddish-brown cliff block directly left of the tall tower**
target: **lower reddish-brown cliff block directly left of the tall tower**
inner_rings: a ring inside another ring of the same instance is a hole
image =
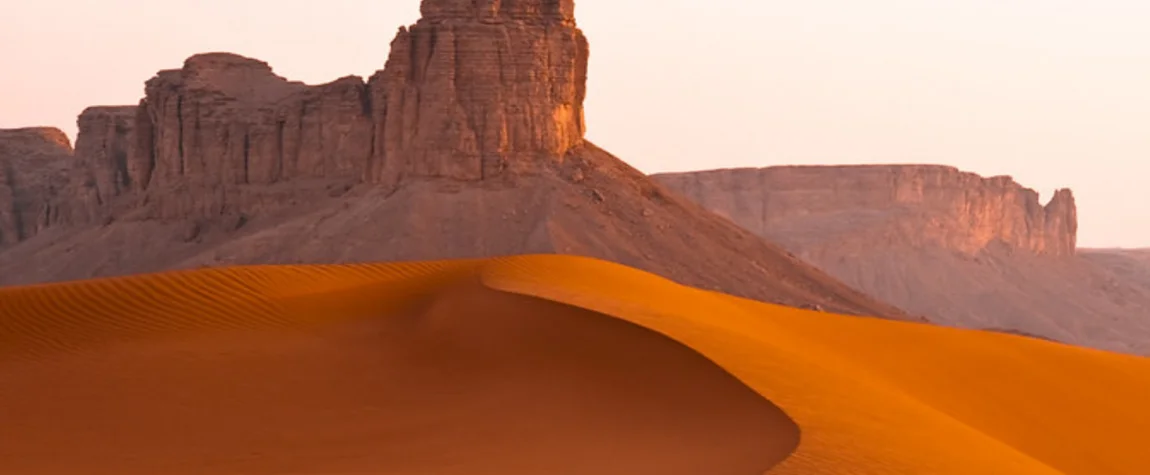
[[[358,178],[371,151],[367,101],[356,77],[307,86],[262,61],[194,55],[146,83],[129,181],[159,190]]]

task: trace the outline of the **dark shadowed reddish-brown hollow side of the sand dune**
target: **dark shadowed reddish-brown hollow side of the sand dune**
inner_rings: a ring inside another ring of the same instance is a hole
[[[752,475],[798,444],[687,346],[480,284],[398,314],[172,335],[0,359],[0,472]]]

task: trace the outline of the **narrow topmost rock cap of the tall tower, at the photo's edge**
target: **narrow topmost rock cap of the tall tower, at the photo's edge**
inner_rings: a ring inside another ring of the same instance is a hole
[[[516,20],[575,23],[575,0],[423,0],[425,21]]]

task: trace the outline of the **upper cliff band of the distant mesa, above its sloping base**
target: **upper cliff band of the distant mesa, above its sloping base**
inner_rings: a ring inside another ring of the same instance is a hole
[[[937,245],[968,255],[997,245],[1073,255],[1076,246],[1070,190],[1058,190],[1042,206],[1038,193],[1010,177],[983,178],[951,167],[774,167],[656,178],[764,236],[781,228],[818,233],[846,227],[872,233],[866,245]]]

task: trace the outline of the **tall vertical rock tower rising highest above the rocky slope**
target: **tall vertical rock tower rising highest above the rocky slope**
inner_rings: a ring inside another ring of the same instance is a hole
[[[425,0],[369,82],[366,178],[529,173],[583,143],[588,43],[566,1]]]

